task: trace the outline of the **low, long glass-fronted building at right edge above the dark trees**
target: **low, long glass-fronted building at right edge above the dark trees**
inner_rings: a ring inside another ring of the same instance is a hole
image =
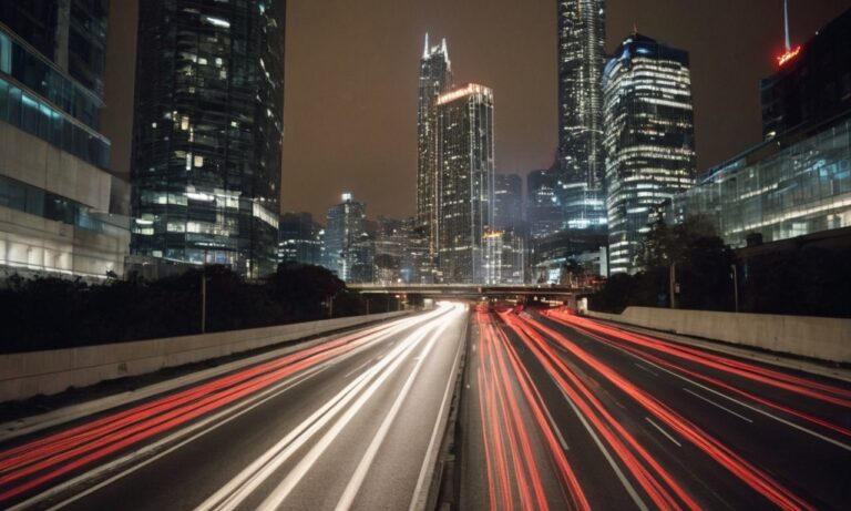
[[[851,226],[851,115],[777,135],[711,168],[664,209],[668,223],[710,218],[724,243],[777,242]]]

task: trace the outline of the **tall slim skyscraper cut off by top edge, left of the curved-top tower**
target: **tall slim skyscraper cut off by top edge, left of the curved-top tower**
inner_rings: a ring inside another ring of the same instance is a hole
[[[605,0],[558,0],[557,194],[564,227],[605,228],[603,91]]]

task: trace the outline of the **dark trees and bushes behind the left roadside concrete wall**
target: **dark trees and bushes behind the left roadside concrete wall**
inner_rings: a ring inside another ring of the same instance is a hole
[[[0,352],[199,334],[204,277],[206,331],[366,313],[366,300],[329,270],[295,263],[257,283],[223,266],[153,282],[12,276],[0,280]],[[370,298],[370,310],[396,310],[387,299]]]

